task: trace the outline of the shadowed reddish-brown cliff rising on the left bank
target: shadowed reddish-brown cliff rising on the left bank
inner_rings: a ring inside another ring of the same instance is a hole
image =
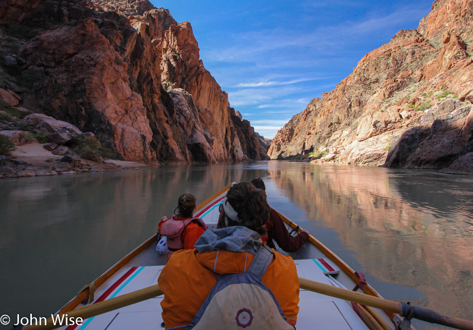
[[[0,68],[1,87],[14,83],[21,107],[93,132],[126,160],[267,157],[199,60],[190,23],[166,9],[147,0],[6,0],[0,24],[1,39],[18,46],[2,44],[17,64]]]

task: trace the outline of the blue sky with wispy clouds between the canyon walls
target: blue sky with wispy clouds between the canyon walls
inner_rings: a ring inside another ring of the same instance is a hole
[[[273,138],[366,53],[417,28],[433,0],[151,2],[191,23],[204,66],[230,105]]]

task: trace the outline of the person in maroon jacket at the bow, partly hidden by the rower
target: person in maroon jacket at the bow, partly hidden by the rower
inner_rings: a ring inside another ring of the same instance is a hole
[[[263,179],[257,178],[251,181],[251,184],[258,189],[266,191]],[[269,247],[275,248],[273,239],[277,245],[286,252],[297,251],[309,239],[309,231],[303,229],[297,236],[289,235],[284,221],[281,219],[276,210],[271,208],[271,216],[266,222],[267,240],[266,244]]]

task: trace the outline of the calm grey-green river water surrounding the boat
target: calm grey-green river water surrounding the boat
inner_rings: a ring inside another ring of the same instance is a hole
[[[473,177],[282,161],[1,180],[0,315],[50,315],[155,233],[181,193],[204,201],[258,177],[270,205],[385,298],[473,321]]]

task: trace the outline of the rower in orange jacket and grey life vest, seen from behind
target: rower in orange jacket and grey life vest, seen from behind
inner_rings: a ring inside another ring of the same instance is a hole
[[[291,257],[266,244],[266,193],[249,182],[235,184],[220,207],[217,229],[195,250],[174,253],[158,284],[166,329],[288,329],[299,312],[299,281]]]

